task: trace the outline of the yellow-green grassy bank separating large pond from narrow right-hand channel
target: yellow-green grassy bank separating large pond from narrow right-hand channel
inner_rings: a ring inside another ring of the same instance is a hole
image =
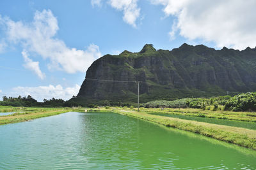
[[[148,120],[168,127],[175,127],[177,129],[202,134],[204,136],[256,150],[255,130],[196,122],[193,120],[184,120],[179,118],[161,117],[158,115],[150,115],[145,111],[136,112],[133,110],[115,110],[114,112],[127,115],[129,117],[141,118],[143,120]]]

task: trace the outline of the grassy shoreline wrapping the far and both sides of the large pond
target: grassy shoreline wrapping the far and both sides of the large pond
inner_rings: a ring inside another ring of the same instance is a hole
[[[0,125],[12,124],[17,122],[26,122],[35,118],[50,117],[53,115],[59,115],[61,113],[67,113],[69,111],[86,112],[86,109],[81,108],[48,108],[46,111],[38,111],[31,113],[15,113],[14,115],[7,115],[0,117]],[[210,124],[205,122],[197,122],[195,120],[186,120],[180,118],[164,117],[160,115],[151,115],[147,111],[134,111],[129,109],[117,109],[117,108],[97,108],[88,110],[88,112],[113,112],[120,115],[129,117],[140,118],[148,122],[154,122],[156,124],[164,125],[166,127],[174,127],[183,131],[193,132],[195,134],[201,134],[210,138],[225,141],[227,143],[233,143],[235,145],[243,146],[256,150],[256,130],[246,129],[242,127],[234,127],[228,125]]]

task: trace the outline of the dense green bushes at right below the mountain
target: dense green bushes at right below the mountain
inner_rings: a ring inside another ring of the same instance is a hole
[[[247,92],[236,96],[218,96],[209,99],[185,98],[175,101],[150,101],[145,108],[202,108],[217,110],[222,108],[232,111],[256,111],[256,92]]]

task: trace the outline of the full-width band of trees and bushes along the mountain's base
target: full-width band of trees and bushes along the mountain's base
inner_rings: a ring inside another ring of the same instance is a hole
[[[73,97],[74,98],[74,97]],[[95,106],[137,106],[136,103],[122,103],[115,101],[91,101],[92,103],[79,103],[77,101],[63,101],[63,99],[44,99],[44,102],[38,102],[33,97],[3,97],[0,106],[40,106],[40,107],[61,107],[61,106],[86,106],[94,108]],[[218,96],[208,99],[204,98],[184,98],[174,101],[157,100],[141,104],[145,108],[201,108],[203,110],[232,110],[232,111],[256,111],[256,92],[247,92],[236,96]]]

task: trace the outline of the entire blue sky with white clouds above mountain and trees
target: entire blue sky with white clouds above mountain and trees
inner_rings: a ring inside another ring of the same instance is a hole
[[[1,0],[0,97],[76,96],[94,60],[143,46],[256,46],[254,0]]]

